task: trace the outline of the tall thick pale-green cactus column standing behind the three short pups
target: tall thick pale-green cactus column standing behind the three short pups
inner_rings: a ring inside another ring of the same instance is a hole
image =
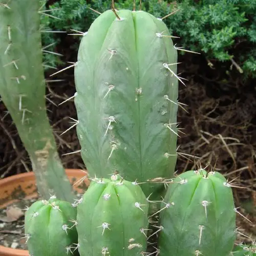
[[[161,19],[105,11],[84,33],[75,66],[81,156],[89,174],[114,170],[160,198],[176,165],[177,49]]]

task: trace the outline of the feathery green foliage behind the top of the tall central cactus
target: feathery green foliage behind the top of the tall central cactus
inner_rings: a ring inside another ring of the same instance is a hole
[[[133,0],[115,1],[116,8],[133,8]],[[139,3],[137,1],[137,9]],[[51,14],[57,19],[42,17],[42,25],[54,31],[71,29],[87,31],[98,16],[89,7],[103,12],[110,9],[111,1],[102,0],[60,0],[48,4],[49,9],[57,9]],[[234,65],[244,78],[256,77],[256,0],[145,0],[142,10],[156,17],[164,17],[175,10],[179,11],[165,19],[170,32],[179,36],[177,46],[201,52],[213,67],[218,61]],[[61,33],[45,33],[43,44],[59,42]],[[77,51],[79,39],[76,37],[71,46]],[[56,56],[46,55],[51,66],[56,65]],[[240,68],[241,69],[240,69]]]

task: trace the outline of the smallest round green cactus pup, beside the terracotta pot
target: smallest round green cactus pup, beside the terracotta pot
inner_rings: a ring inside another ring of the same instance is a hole
[[[77,208],[54,196],[33,203],[25,214],[25,238],[30,255],[78,255]]]

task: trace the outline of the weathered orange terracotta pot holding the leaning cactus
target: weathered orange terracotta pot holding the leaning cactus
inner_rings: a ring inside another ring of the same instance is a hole
[[[86,175],[79,169],[66,169],[66,174],[71,184],[75,184]],[[84,189],[89,186],[90,181],[84,179],[79,183],[74,185],[73,188],[78,193],[83,194]],[[36,198],[37,195],[35,175],[33,172],[17,174],[0,180],[0,208],[6,208],[8,205],[19,200]],[[12,249],[0,245],[0,256],[29,256],[29,251]]]

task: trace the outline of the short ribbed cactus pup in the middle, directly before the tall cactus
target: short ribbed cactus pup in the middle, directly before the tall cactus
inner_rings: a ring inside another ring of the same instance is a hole
[[[146,251],[148,202],[137,182],[94,179],[77,206],[80,256]]]

